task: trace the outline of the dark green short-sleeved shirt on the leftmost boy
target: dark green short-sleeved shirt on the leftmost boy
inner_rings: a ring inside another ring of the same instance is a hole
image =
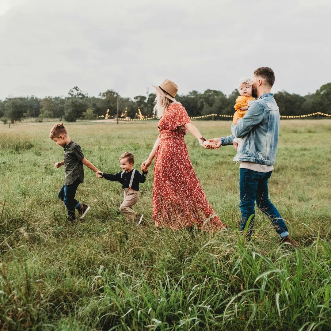
[[[66,170],[66,181],[65,185],[72,184],[77,178],[80,182],[84,182],[84,168],[82,160],[84,159],[84,154],[74,141],[63,146],[64,148],[64,167]]]

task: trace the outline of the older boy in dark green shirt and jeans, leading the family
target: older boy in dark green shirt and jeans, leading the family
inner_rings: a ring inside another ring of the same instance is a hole
[[[52,127],[49,137],[55,141],[55,143],[64,148],[64,161],[57,162],[55,166],[65,166],[66,179],[62,186],[58,197],[61,199],[68,211],[68,221],[74,221],[76,219],[75,209],[80,214],[80,218],[83,218],[90,210],[90,207],[80,203],[75,199],[77,187],[80,183],[84,182],[84,168],[83,164],[93,170],[97,177],[100,172],[91,162],[89,162],[83,155],[80,146],[72,141],[63,123],[58,123]]]

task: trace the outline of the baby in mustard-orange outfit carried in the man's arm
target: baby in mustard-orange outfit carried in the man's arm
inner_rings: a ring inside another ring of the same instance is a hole
[[[239,79],[239,93],[240,96],[236,100],[236,104],[234,105],[234,109],[236,110],[233,115],[233,124],[237,124],[237,122],[244,117],[246,111],[248,110],[251,103],[255,100],[252,97],[252,83],[253,80],[251,78],[240,78]],[[239,145],[241,138],[234,138],[234,145]],[[238,147],[238,146],[237,146]]]

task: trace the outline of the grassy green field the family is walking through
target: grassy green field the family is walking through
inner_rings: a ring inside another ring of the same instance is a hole
[[[191,161],[226,232],[156,230],[152,166],[136,205],[147,225],[126,224],[120,184],[88,168],[77,198],[91,211],[68,223],[52,124],[0,126],[0,329],[331,329],[330,120],[281,122],[270,197],[298,249],[279,246],[260,212],[259,238],[243,241],[235,150],[204,150],[190,135]],[[229,121],[194,124],[205,137],[230,134]],[[156,121],[66,126],[86,158],[110,173],[125,151],[140,169],[158,134]]]

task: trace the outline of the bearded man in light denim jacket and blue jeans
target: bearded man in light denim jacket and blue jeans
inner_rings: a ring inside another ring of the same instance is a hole
[[[261,67],[254,71],[252,96],[258,99],[251,104],[237,124],[232,124],[233,135],[214,138],[211,141],[220,147],[232,145],[234,137],[242,138],[233,160],[241,161],[240,230],[245,229],[248,219],[253,215],[248,227],[249,238],[253,234],[256,201],[260,210],[271,220],[280,241],[295,245],[289,237],[283,218],[268,197],[268,179],[275,163],[280,122],[278,106],[273,94],[270,93],[274,81],[272,69]]]

